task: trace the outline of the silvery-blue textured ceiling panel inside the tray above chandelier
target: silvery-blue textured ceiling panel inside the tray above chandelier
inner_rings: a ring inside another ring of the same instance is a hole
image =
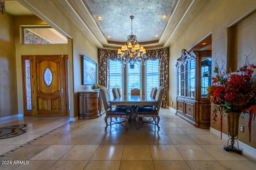
[[[125,42],[131,32],[139,42],[158,40],[170,16],[175,0],[85,0],[105,37]],[[132,20],[130,16],[134,16]],[[132,30],[133,29],[133,30]],[[155,37],[158,35],[159,37]]]

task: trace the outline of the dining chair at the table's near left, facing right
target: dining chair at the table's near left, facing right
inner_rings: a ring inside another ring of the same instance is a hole
[[[102,101],[104,104],[104,109],[106,111],[106,117],[105,117],[105,123],[106,123],[106,127],[105,129],[107,129],[108,125],[114,125],[114,124],[120,124],[123,127],[125,127],[125,130],[128,131],[127,128],[127,123],[128,123],[128,118],[129,118],[129,109],[126,107],[112,107],[109,103],[110,101],[110,95],[108,93],[108,90],[106,89],[106,87],[102,87],[100,89],[100,94],[102,97]],[[108,117],[110,117],[110,123],[108,124],[107,120]],[[112,120],[112,117],[116,118],[116,121]],[[117,121],[117,118],[121,117],[124,118],[124,121]],[[114,123],[112,123],[114,122]],[[123,125],[122,123],[125,122],[125,125]]]

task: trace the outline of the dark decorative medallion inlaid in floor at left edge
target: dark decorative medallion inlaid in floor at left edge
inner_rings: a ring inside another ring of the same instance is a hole
[[[27,125],[12,125],[0,128],[0,139],[6,139],[10,137],[15,137],[25,133],[26,131],[23,129]]]

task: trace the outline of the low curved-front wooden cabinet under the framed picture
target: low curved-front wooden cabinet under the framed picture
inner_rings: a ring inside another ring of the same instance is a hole
[[[78,119],[94,119],[102,115],[100,92],[78,92]]]

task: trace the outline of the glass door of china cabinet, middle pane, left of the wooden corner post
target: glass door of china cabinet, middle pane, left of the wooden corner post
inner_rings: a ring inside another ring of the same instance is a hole
[[[186,97],[195,98],[196,67],[195,59],[186,63]]]

